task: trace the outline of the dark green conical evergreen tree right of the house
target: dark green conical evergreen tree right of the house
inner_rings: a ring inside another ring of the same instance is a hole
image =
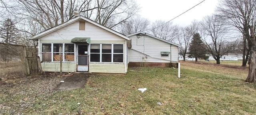
[[[195,57],[196,62],[198,58],[205,58],[205,54],[207,53],[205,50],[205,45],[201,40],[201,36],[199,33],[196,33],[193,35],[192,41],[190,43],[190,46],[188,48],[189,56],[188,57]]]

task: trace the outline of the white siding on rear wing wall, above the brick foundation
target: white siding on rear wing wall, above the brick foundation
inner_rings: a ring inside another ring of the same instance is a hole
[[[176,51],[171,51],[171,44],[151,38],[149,36],[144,36],[144,46],[137,46],[137,37],[130,36],[132,39],[132,49],[129,51],[129,61],[130,62],[171,62],[172,59],[178,56]],[[177,46],[172,45],[172,50],[178,49]],[[161,56],[161,52],[171,52],[173,55]],[[148,58],[142,59],[143,56],[148,55]],[[177,56],[174,56],[177,55]],[[177,57],[178,59],[178,57]],[[176,60],[177,60],[176,59]],[[172,60],[175,61],[175,60]]]

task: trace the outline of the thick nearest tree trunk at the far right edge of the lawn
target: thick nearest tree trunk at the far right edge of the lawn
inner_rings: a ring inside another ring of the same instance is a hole
[[[251,44],[252,44],[252,49],[250,51],[250,58],[248,61],[249,64],[249,72],[248,76],[246,78],[246,82],[255,82],[256,79],[256,40],[255,40],[255,35],[253,28],[249,26],[250,32],[251,32]]]

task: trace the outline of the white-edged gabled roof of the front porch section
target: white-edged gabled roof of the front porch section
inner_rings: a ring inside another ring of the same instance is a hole
[[[59,30],[59,29],[65,27],[65,26],[68,26],[68,25],[70,25],[70,24],[72,24],[72,23],[74,23],[74,22],[76,22],[76,21],[79,21],[79,20],[85,20],[85,21],[90,22],[90,23],[92,23],[92,24],[94,24],[94,25],[96,25],[96,26],[98,26],[98,27],[100,27],[100,28],[102,28],[102,29],[104,29],[104,30],[107,30],[108,32],[111,32],[111,33],[113,33],[113,34],[116,34],[117,36],[120,36],[120,37],[122,37],[122,38],[124,38],[124,39],[126,39],[126,40],[130,40],[130,38],[124,36],[123,34],[120,34],[119,32],[116,32],[116,31],[114,31],[114,30],[112,30],[112,29],[110,29],[110,28],[107,28],[107,27],[105,27],[105,26],[102,26],[102,25],[100,25],[99,23],[94,22],[93,20],[90,20],[90,19],[85,18],[85,17],[83,17],[83,16],[78,16],[78,17],[73,18],[73,19],[71,19],[71,20],[68,20],[67,22],[64,22],[64,23],[62,23],[62,24],[60,24],[60,25],[58,25],[58,26],[55,26],[55,27],[50,28],[50,29],[48,29],[48,30],[45,30],[44,32],[42,32],[42,33],[40,33],[40,34],[37,34],[37,35],[33,36],[33,37],[32,37],[32,40],[38,40],[39,38],[42,38],[43,36],[46,36],[47,34],[50,34],[50,33],[54,32],[54,31],[56,31],[56,30]]]

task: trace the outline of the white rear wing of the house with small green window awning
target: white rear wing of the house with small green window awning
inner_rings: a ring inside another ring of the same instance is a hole
[[[180,45],[145,32],[136,32],[127,37],[131,38],[128,42],[131,44],[128,49],[129,66],[178,66]]]

